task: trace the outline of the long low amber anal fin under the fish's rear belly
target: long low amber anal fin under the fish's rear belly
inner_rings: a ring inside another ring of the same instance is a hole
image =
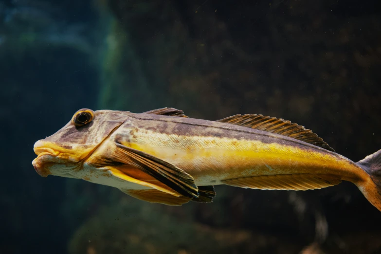
[[[328,174],[287,174],[243,177],[222,182],[231,186],[260,190],[313,190],[339,184],[341,179]]]

